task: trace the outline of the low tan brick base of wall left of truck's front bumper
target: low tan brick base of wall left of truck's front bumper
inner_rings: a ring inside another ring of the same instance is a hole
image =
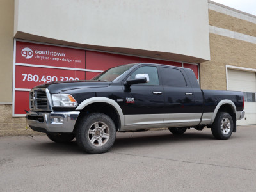
[[[26,118],[12,117],[12,105],[0,104],[0,136],[17,136],[41,134],[28,127],[26,130]]]

